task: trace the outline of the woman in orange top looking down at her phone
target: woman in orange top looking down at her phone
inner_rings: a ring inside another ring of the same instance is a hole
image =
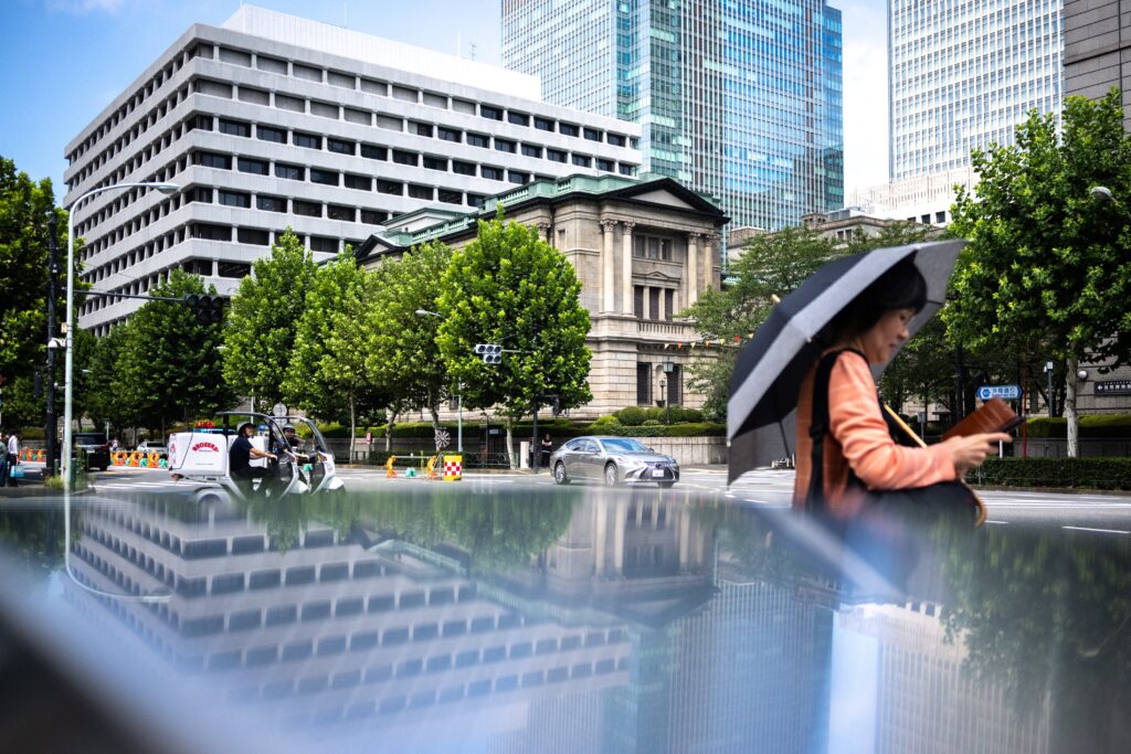
[[[907,259],[877,278],[830,322],[826,343],[831,346],[810,370],[797,397],[794,508],[806,508],[817,495],[830,514],[852,517],[866,504],[867,491],[960,480],[998,442],[1010,441],[1000,432],[956,436],[924,448],[907,448],[892,439],[871,367],[887,363],[907,340],[908,324],[925,303],[926,283]],[[818,395],[822,389],[823,406]],[[824,408],[826,426],[820,422],[814,426],[814,406]],[[811,491],[814,439],[822,454],[818,469],[822,488]]]

